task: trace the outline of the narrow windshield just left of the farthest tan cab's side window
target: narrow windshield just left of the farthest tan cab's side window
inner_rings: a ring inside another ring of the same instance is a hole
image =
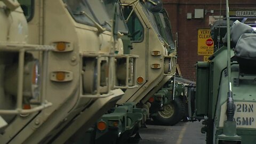
[[[115,15],[115,3],[117,3],[118,0],[103,0],[103,2],[106,6],[106,9],[108,10],[107,12],[110,19],[113,19]],[[118,31],[120,31],[123,34],[128,34],[128,28],[125,23],[122,9],[119,4],[117,4],[116,9],[117,9],[116,16],[117,16]]]

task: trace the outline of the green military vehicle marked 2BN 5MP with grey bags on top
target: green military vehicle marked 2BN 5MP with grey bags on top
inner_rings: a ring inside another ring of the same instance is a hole
[[[224,45],[209,62],[197,62],[197,85],[188,89],[189,113],[204,120],[201,131],[207,144],[255,143],[256,36],[252,27],[239,21],[229,28],[228,12],[227,1]]]

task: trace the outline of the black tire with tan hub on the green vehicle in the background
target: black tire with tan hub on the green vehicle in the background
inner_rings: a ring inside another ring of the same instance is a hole
[[[175,125],[185,116],[185,104],[180,98],[175,98],[170,103],[166,103],[157,116],[153,117],[154,122],[159,125]]]

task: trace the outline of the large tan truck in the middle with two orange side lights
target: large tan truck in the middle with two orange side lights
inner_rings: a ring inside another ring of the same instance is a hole
[[[107,15],[101,1],[19,2],[28,20],[29,44],[54,46],[44,69],[48,76],[42,78],[44,97],[52,107],[16,116],[0,140],[64,143],[113,107],[124,93],[121,89],[135,87],[137,57],[123,54],[115,17]],[[42,59],[41,54],[35,57]]]

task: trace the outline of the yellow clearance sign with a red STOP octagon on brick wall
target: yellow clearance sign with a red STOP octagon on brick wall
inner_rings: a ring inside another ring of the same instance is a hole
[[[198,55],[212,55],[213,54],[213,40],[211,38],[210,29],[198,29]]]

